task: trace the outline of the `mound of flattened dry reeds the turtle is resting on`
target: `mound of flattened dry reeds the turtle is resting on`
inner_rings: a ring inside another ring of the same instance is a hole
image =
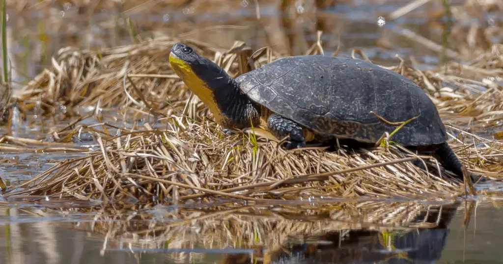
[[[97,202],[134,198],[176,204],[210,197],[275,201],[464,194],[462,185],[448,179],[435,159],[407,154],[395,145],[286,151],[275,140],[258,137],[254,144],[247,133],[228,135],[209,120],[184,124],[182,116],[172,116],[166,126],[120,129],[115,137],[93,132],[98,150],[59,162],[6,197],[71,196]],[[469,143],[452,145],[470,170],[489,176],[500,170],[500,142],[477,136],[465,140]],[[418,158],[430,165],[428,171],[410,162]]]

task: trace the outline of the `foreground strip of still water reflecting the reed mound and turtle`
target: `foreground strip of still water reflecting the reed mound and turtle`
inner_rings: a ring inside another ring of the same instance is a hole
[[[0,262],[448,263],[471,259],[489,263],[499,261],[497,241],[503,237],[493,228],[501,225],[503,214],[487,204],[478,206],[476,219],[474,206],[466,209],[464,203],[346,202],[317,205],[318,209],[130,205],[121,210],[90,210],[84,204],[69,208],[68,202],[64,208],[54,205],[41,201],[39,207],[19,204],[3,209]]]

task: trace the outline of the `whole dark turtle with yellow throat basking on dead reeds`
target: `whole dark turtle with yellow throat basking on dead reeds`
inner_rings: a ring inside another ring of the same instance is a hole
[[[390,140],[431,153],[463,180],[463,164],[447,143],[445,125],[430,97],[409,78],[370,61],[288,56],[232,78],[183,43],[172,46],[169,61],[224,128],[253,124],[286,138],[290,150],[330,138],[375,144],[408,120]]]

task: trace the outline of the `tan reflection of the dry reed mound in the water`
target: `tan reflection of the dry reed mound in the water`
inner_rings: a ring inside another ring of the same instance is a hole
[[[276,205],[274,208],[242,204],[228,207],[203,205],[208,206],[210,208],[180,207],[175,210],[159,205],[140,210],[98,207],[64,211],[92,215],[93,221],[79,221],[72,227],[104,238],[102,250],[126,245],[140,250],[251,248],[256,250],[256,257],[266,249],[267,254],[262,257],[274,260],[275,252],[288,244],[315,244],[319,240],[324,240],[325,244],[332,240],[330,242],[336,243],[336,247],[337,243],[345,244],[351,230],[364,229],[398,236],[417,228],[444,228],[458,204],[368,201]],[[184,253],[166,252],[165,255],[190,262]]]

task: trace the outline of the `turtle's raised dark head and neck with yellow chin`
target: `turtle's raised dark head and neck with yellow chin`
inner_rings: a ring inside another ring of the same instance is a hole
[[[193,48],[177,43],[171,48],[170,64],[185,85],[208,107],[217,123],[224,119],[219,97],[235,89],[235,81],[213,61]]]

